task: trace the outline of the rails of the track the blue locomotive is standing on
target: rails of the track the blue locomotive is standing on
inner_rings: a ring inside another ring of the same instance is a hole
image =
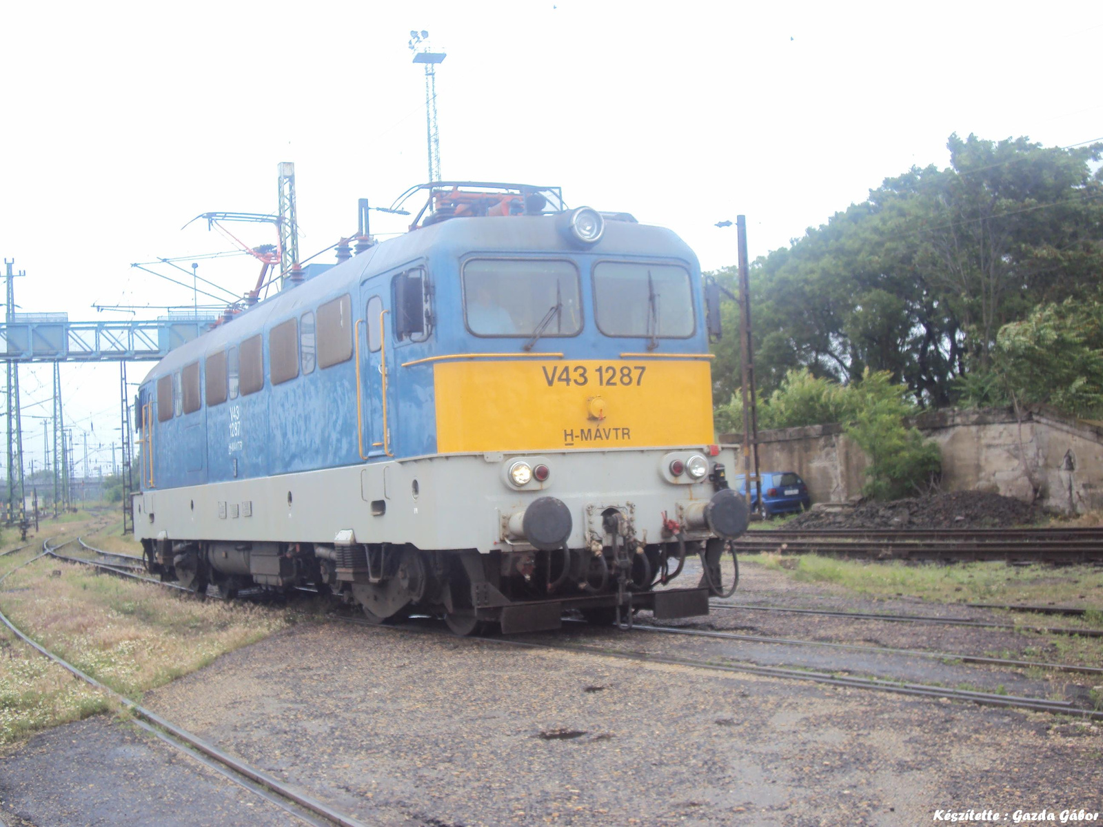
[[[93,546],[88,546],[79,538],[78,541],[81,543],[81,546],[87,550],[97,552],[99,551],[99,549],[96,549]],[[107,570],[110,571],[111,573],[116,573],[121,577],[133,578],[137,580],[156,583],[158,586],[165,586],[165,587],[174,586],[173,583],[163,583],[160,580],[154,580],[148,577],[141,577],[139,574],[133,573],[132,571],[111,567],[107,563],[97,562],[95,560],[87,560],[76,557],[73,558],[64,557],[64,556],[58,556],[55,552],[52,552],[52,556],[58,557],[60,559],[67,559],[71,560],[72,562],[94,566],[100,570]],[[175,588],[179,589],[180,587]],[[738,606],[728,606],[728,608],[738,608]],[[796,610],[796,611],[811,611],[811,610]],[[847,613],[842,613],[842,614],[846,615]],[[887,615],[865,615],[865,616],[884,619]],[[908,616],[908,615],[902,615],[902,616]],[[908,616],[908,617],[917,620],[930,620],[927,617],[920,617],[919,615]],[[358,625],[366,625],[373,629],[378,629],[376,625],[370,624],[367,623],[367,621],[361,621],[360,619],[356,617],[341,617],[341,620],[349,623],[355,623]],[[972,622],[970,623],[972,624]],[[989,624],[979,624],[979,625],[989,625]],[[410,625],[388,626],[388,629],[395,629],[395,630],[420,629],[420,631],[425,631],[424,627],[410,626]],[[824,646],[831,648],[853,648],[864,652],[880,652],[882,654],[912,655],[918,657],[955,659],[955,660],[961,660],[963,663],[976,663],[989,666],[1007,666],[1015,668],[1043,668],[1054,672],[1075,672],[1075,673],[1092,674],[1092,675],[1103,674],[1103,669],[1097,669],[1095,667],[1080,667],[1071,664],[1045,664],[1040,662],[1014,660],[1008,658],[985,658],[979,656],[964,655],[960,653],[935,653],[935,652],[927,652],[923,649],[875,648],[868,646],[858,646],[854,644],[832,644],[818,641],[788,641],[784,638],[769,638],[769,637],[759,637],[754,635],[739,635],[737,633],[728,633],[721,631],[683,630],[683,629],[652,626],[644,624],[641,624],[641,630],[652,634],[688,634],[688,635],[698,635],[704,637],[740,640],[751,643],[778,643],[778,644],[790,644],[790,645]],[[1103,635],[1103,632],[1100,632],[1100,634]],[[762,666],[759,664],[751,664],[751,663],[717,664],[711,660],[702,660],[702,659],[685,658],[685,657],[671,657],[665,655],[653,655],[649,653],[611,649],[600,646],[589,646],[585,644],[535,643],[531,641],[518,641],[505,637],[481,637],[478,640],[502,645],[515,645],[529,648],[548,648],[548,649],[558,648],[564,651],[578,651],[578,652],[587,652],[589,654],[597,654],[601,656],[617,657],[621,659],[628,658],[647,663],[665,663],[671,665],[690,666],[713,672],[743,673],[743,674],[763,675],[769,677],[778,677],[786,679],[811,680],[814,683],[828,684],[832,686],[888,691],[898,695],[911,695],[917,697],[949,698],[951,700],[970,701],[985,706],[1011,707],[1011,708],[1027,709],[1032,711],[1079,716],[1083,718],[1089,718],[1091,720],[1103,720],[1103,711],[1082,709],[1073,706],[1072,701],[1057,701],[1048,698],[1029,698],[1029,697],[1000,695],[993,692],[978,692],[967,689],[954,689],[949,687],[932,686],[925,684],[888,680],[884,678],[866,678],[866,677],[855,677],[849,675],[835,675],[831,673],[815,672],[803,668],[790,668],[783,666]]]

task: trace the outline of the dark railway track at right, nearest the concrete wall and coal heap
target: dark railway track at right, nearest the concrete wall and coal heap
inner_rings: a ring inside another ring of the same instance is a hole
[[[743,554],[820,554],[875,560],[1103,563],[1100,528],[772,529],[736,540]]]

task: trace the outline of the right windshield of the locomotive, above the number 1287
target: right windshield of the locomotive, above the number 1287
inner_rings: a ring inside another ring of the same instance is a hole
[[[689,272],[675,265],[602,261],[593,268],[595,315],[607,336],[693,335]]]

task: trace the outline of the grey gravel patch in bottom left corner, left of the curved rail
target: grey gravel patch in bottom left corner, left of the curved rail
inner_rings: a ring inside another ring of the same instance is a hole
[[[10,827],[266,827],[289,820],[172,747],[105,717],[41,732],[0,758],[0,824]]]

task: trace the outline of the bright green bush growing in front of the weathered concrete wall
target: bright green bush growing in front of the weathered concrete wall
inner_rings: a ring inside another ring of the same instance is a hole
[[[869,458],[861,493],[874,500],[899,500],[929,491],[938,480],[942,457],[903,419],[914,411],[904,388],[886,372],[866,369],[854,389],[853,419],[844,431]]]

